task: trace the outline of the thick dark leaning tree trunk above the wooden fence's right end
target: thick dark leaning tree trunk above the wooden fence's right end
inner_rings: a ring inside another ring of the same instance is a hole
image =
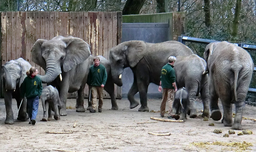
[[[124,5],[122,14],[123,15],[139,14],[139,11],[142,8],[145,1],[146,0],[127,0]]]

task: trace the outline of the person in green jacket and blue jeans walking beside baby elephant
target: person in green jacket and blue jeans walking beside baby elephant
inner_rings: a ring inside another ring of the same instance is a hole
[[[38,73],[37,68],[31,67],[26,72],[27,77],[21,84],[21,97],[27,98],[27,111],[29,113],[29,124],[35,124],[35,118],[38,112],[39,97],[42,94],[43,85],[41,79],[36,76]]]

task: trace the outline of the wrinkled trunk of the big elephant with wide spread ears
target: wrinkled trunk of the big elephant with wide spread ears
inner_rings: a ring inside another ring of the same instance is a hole
[[[42,80],[42,83],[50,83],[61,74],[60,64],[56,62],[53,58],[46,60],[46,73],[44,76],[38,75]]]

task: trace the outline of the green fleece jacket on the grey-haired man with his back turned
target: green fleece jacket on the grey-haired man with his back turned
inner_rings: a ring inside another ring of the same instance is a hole
[[[175,77],[175,71],[173,67],[174,66],[168,63],[165,66],[163,66],[161,70],[161,76],[160,76],[162,88],[174,89],[172,83],[175,82],[176,77]]]

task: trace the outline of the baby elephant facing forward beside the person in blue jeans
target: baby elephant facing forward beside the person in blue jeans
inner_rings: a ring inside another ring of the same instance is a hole
[[[60,109],[62,107],[61,101],[59,99],[58,90],[52,85],[45,86],[42,91],[42,105],[44,109],[44,117],[41,121],[47,122],[47,120],[52,120],[52,110],[54,111],[54,119],[58,120],[60,118]],[[47,119],[48,110],[48,119]]]

